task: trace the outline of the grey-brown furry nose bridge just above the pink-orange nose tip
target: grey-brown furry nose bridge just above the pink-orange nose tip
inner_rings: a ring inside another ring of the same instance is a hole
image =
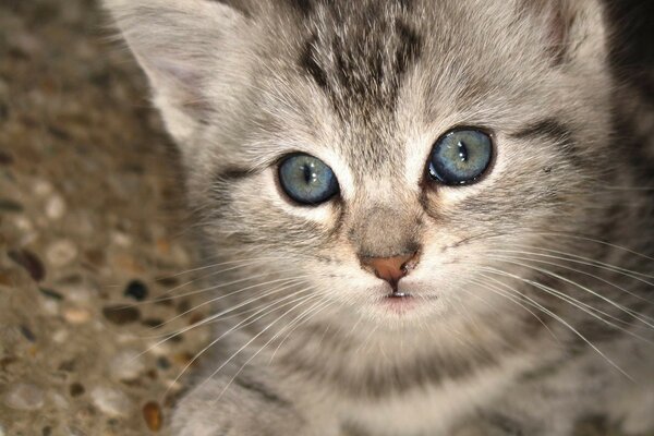
[[[354,215],[349,239],[361,257],[390,258],[419,250],[419,218],[401,202],[375,205]]]

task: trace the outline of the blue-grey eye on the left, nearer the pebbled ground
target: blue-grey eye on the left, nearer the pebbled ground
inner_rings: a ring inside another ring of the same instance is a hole
[[[304,154],[291,155],[281,161],[279,182],[289,197],[305,205],[325,203],[339,191],[331,168]]]

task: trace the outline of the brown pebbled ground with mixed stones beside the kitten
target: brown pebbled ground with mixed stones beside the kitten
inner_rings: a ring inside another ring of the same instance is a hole
[[[208,338],[158,343],[206,313],[179,296],[174,148],[106,24],[93,0],[0,0],[0,436],[165,434]]]

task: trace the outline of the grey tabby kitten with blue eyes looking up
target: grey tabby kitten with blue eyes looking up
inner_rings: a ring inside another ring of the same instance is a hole
[[[598,0],[105,1],[222,263],[175,435],[654,427],[651,150]]]

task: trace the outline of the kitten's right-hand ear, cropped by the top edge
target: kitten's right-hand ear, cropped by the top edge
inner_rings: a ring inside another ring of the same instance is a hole
[[[520,0],[537,20],[554,65],[600,61],[607,56],[607,26],[600,0]]]

